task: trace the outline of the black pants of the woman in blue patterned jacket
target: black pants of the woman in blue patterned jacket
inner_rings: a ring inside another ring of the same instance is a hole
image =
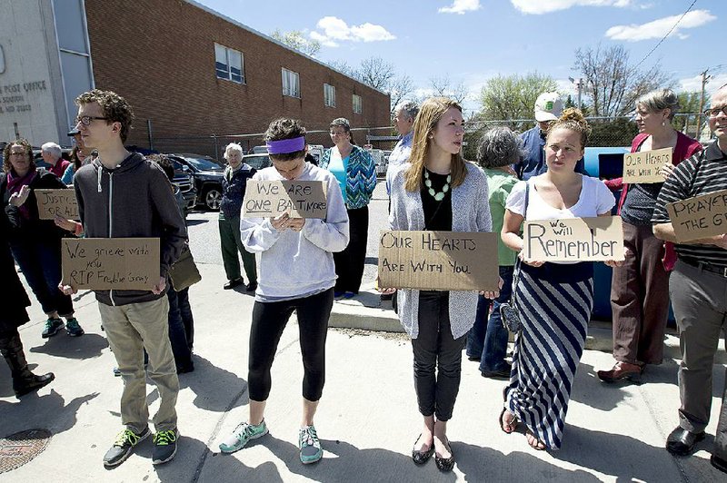
[[[349,242],[344,251],[334,253],[336,291],[358,293],[361,279],[364,278],[366,261],[366,242],[369,236],[369,207],[347,210]]]

